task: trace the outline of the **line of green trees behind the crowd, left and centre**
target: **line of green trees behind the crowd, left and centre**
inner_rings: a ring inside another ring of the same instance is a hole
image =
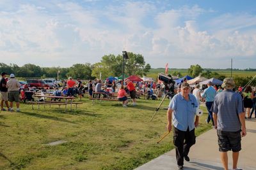
[[[129,59],[124,59],[125,69],[124,73],[127,75],[147,75],[150,70],[150,64],[146,64],[143,55],[128,52]],[[74,64],[71,67],[40,67],[35,64],[24,64],[18,66],[17,64],[0,63],[0,71],[8,74],[14,73],[17,77],[23,78],[60,78],[67,79],[81,78],[92,80],[99,78],[108,78],[108,76],[122,75],[123,56],[122,55],[104,55],[100,62],[90,64]]]

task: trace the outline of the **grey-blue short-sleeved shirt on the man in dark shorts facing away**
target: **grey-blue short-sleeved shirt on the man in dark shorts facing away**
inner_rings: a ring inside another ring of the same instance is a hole
[[[241,130],[239,114],[244,112],[244,106],[240,94],[223,90],[216,95],[211,111],[218,115],[217,129],[227,132]]]

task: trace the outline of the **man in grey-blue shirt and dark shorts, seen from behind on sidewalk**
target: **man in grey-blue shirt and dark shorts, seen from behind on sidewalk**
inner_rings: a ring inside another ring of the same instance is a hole
[[[212,106],[214,127],[217,129],[221,162],[228,170],[228,150],[232,150],[233,169],[237,169],[237,160],[241,150],[241,136],[246,136],[245,113],[243,99],[239,93],[233,92],[235,87],[232,78],[225,78]]]

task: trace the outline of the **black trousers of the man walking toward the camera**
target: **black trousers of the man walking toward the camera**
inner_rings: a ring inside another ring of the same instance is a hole
[[[180,131],[176,127],[173,128],[173,144],[176,150],[176,160],[178,166],[183,166],[184,156],[188,156],[189,149],[196,143],[195,129],[189,131]]]

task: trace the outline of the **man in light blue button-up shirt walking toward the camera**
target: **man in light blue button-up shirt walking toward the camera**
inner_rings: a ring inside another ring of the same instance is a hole
[[[188,153],[196,143],[195,127],[198,126],[199,117],[196,116],[198,103],[196,97],[190,94],[188,83],[182,83],[181,92],[173,96],[166,113],[170,132],[173,125],[173,144],[176,150],[178,169],[183,169],[184,159],[189,161]]]

